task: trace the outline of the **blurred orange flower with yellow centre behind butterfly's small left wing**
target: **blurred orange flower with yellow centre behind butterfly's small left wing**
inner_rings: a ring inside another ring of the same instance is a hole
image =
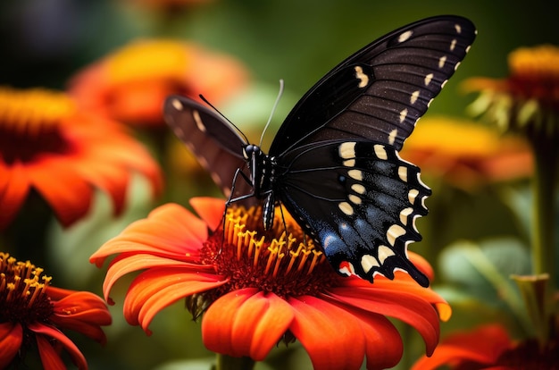
[[[79,102],[117,121],[163,124],[165,97],[203,93],[219,102],[244,85],[236,60],[200,46],[168,39],[144,39],[80,71],[70,91]]]

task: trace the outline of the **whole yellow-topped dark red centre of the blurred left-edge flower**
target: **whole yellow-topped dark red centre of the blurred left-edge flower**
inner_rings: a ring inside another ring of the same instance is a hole
[[[4,163],[31,162],[42,153],[67,153],[71,147],[63,138],[60,120],[73,109],[62,93],[0,88],[0,156]]]

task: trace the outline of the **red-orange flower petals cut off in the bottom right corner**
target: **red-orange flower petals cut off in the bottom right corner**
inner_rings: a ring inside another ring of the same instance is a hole
[[[471,332],[457,332],[443,341],[432,357],[422,357],[413,370],[445,368],[478,369],[556,369],[559,366],[559,341],[511,341],[498,324],[480,326]]]

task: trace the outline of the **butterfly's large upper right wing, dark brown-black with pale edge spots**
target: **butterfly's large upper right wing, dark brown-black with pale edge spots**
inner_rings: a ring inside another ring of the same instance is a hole
[[[299,100],[273,140],[270,156],[328,139],[371,139],[400,150],[475,33],[465,18],[438,16],[363,47]]]

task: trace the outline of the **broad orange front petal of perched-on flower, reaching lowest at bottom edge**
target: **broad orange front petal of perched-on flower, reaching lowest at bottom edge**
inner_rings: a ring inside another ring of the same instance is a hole
[[[359,319],[322,299],[289,299],[295,319],[289,330],[305,347],[314,369],[358,369],[365,355]]]

